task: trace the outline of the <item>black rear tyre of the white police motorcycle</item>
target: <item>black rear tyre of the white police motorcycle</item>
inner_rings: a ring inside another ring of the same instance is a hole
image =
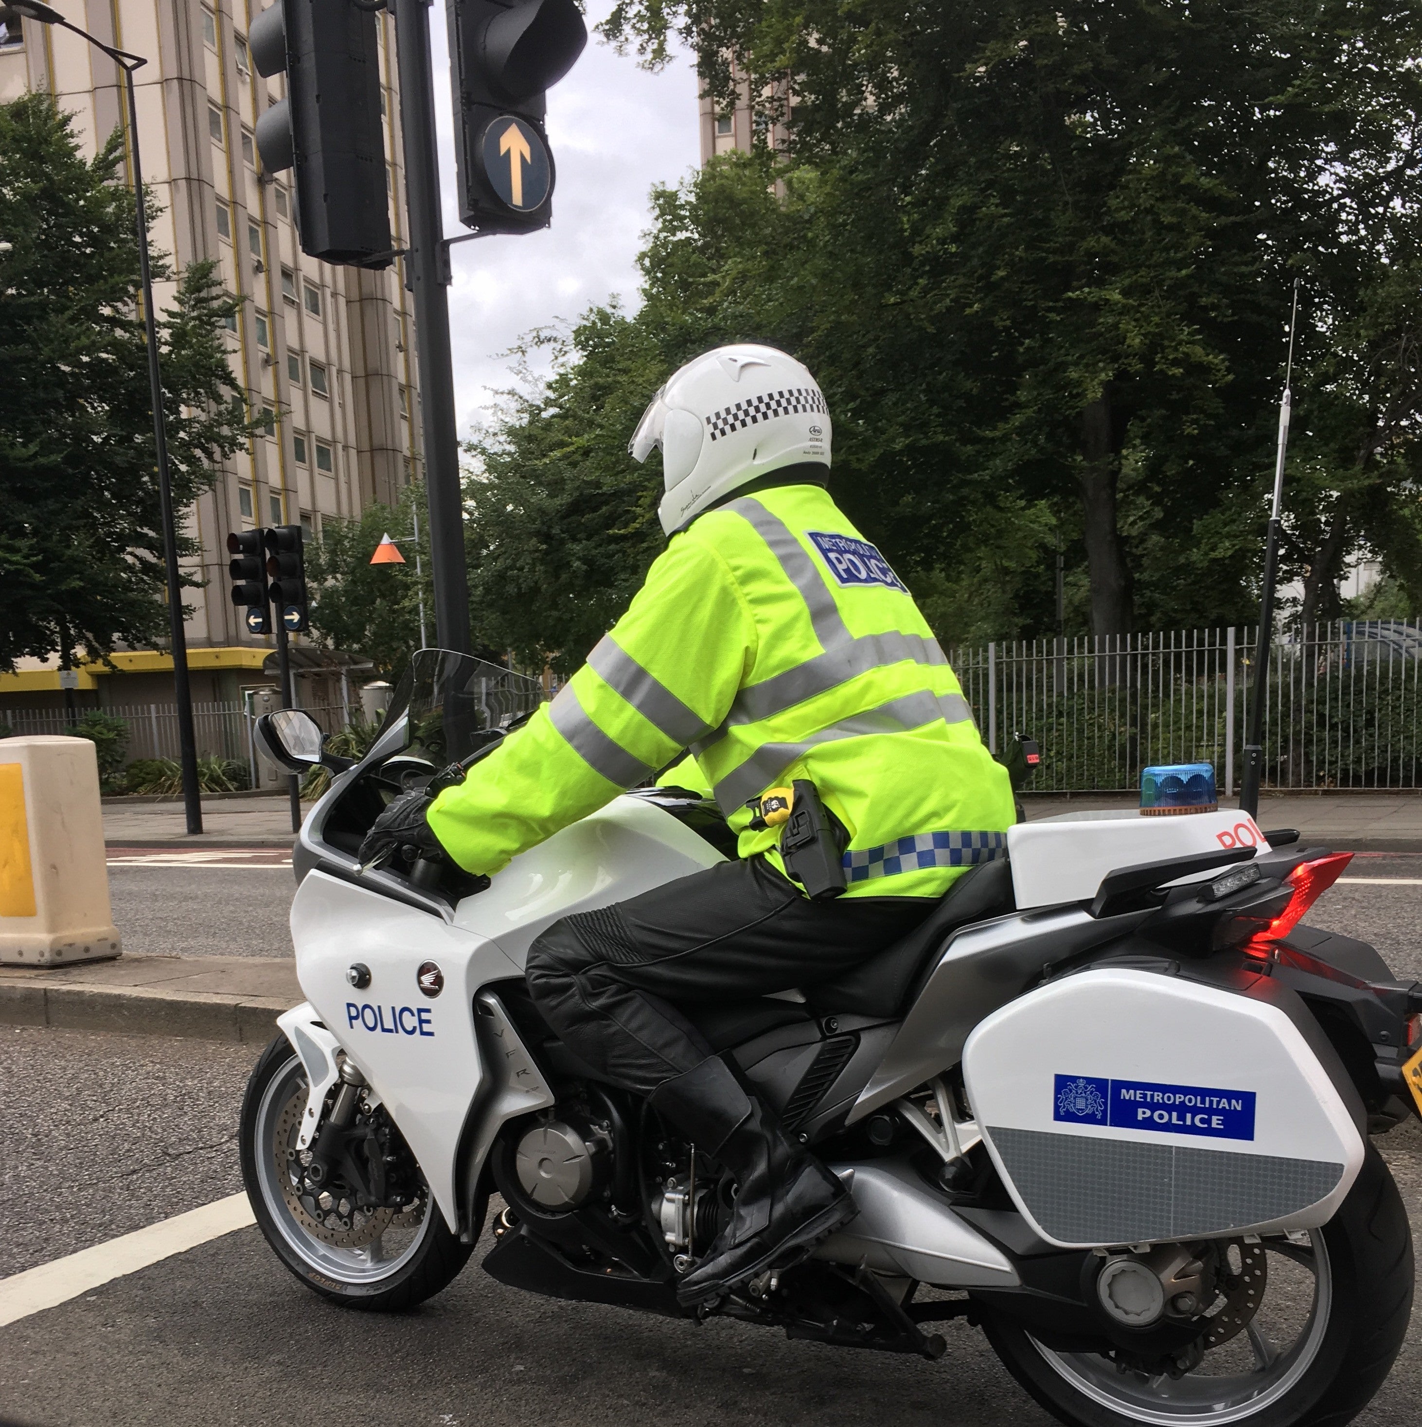
[[[1299,1336],[1302,1349],[1264,1364],[1251,1336],[1252,1374],[1201,1376],[1195,1388],[1182,1388],[1192,1374],[1178,1381],[1146,1378],[1118,1373],[1096,1354],[1054,1353],[999,1309],[984,1306],[982,1326],[1007,1370],[1068,1427],[1343,1427],[1382,1386],[1412,1313],[1408,1216],[1372,1144],[1346,1199],[1311,1239],[1313,1247],[1305,1253],[1313,1259],[1315,1291]],[[1268,1344],[1265,1356],[1266,1350]],[[1211,1386],[1202,1388],[1204,1383]],[[1236,1400],[1225,1400],[1225,1383],[1244,1384]]]

